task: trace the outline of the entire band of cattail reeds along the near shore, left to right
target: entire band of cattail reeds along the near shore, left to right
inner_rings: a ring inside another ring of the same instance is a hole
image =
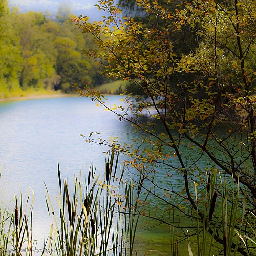
[[[49,194],[46,186],[46,206],[50,216],[50,231],[42,255],[138,255],[134,245],[139,219],[143,218],[143,206],[148,189],[143,175],[133,181],[125,174],[125,166],[118,164],[118,154],[106,153],[105,172],[97,173],[91,165],[84,177],[80,170],[74,182],[61,177],[58,165],[58,194]],[[214,255],[216,226],[222,226],[223,255],[238,255],[239,244],[248,248],[256,245],[255,223],[246,220],[255,213],[246,210],[246,196],[240,183],[227,186],[226,180],[216,171],[208,175],[204,201],[198,200],[198,184],[194,184],[196,211],[196,239],[187,231],[187,253]],[[230,198],[230,190],[232,191]],[[11,202],[12,209],[0,208],[0,255],[33,255],[36,241],[32,233],[33,190],[26,203],[22,196]],[[201,193],[201,191],[200,191]],[[243,199],[242,208],[238,207]],[[170,211],[170,221],[175,219]],[[174,212],[173,212],[174,215]],[[237,220],[240,220],[238,223]],[[180,255],[178,227],[170,225],[171,255]],[[246,228],[245,228],[246,227]],[[177,229],[177,230],[176,230]],[[250,236],[245,230],[250,230]],[[176,232],[176,236],[175,233]],[[220,236],[220,233],[218,234]],[[196,240],[196,247],[192,246]],[[182,250],[184,251],[184,250]],[[145,254],[161,251],[149,250]]]

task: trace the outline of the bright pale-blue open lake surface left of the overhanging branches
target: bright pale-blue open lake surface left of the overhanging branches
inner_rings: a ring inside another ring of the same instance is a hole
[[[109,104],[119,102],[119,96],[109,96]],[[108,148],[87,144],[80,136],[91,132],[102,138],[122,136],[122,141],[133,138],[131,126],[120,122],[112,113],[97,107],[88,98],[70,97],[37,99],[0,103],[0,185],[2,200],[14,209],[15,195],[29,187],[35,194],[33,206],[33,237],[39,248],[50,229],[46,208],[47,185],[50,195],[58,191],[57,163],[63,178],[73,182],[74,174],[87,175],[93,163],[97,172],[104,173]]]

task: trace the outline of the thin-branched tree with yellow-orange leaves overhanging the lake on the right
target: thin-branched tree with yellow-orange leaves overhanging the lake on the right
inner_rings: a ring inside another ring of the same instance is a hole
[[[169,4],[174,1],[137,0],[153,23],[123,17],[111,0],[100,1],[99,9],[109,11],[101,22],[74,19],[82,33],[96,40],[96,47],[84,53],[103,63],[109,77],[132,82],[143,96],[126,94],[125,106],[111,107],[87,82],[77,92],[101,102],[120,121],[131,122],[145,134],[133,144],[110,144],[130,156],[127,163],[138,170],[138,195],[148,193],[162,205],[152,212],[141,203],[136,214],[198,236],[207,230],[223,245],[216,249],[224,255],[231,248],[254,255],[255,1],[182,1],[174,11]],[[193,35],[195,47],[178,55],[173,33]],[[212,183],[216,172],[222,179]],[[183,184],[179,191],[173,185],[177,179]],[[233,182],[244,197],[232,189]],[[214,187],[209,190],[210,184]],[[228,189],[222,189],[223,184]],[[223,207],[212,218],[213,208],[207,205],[215,203],[217,195]],[[238,214],[233,216],[234,208]],[[189,218],[189,225],[170,221],[171,211]],[[239,230],[239,236],[231,230]],[[198,254],[203,253],[199,246]]]

